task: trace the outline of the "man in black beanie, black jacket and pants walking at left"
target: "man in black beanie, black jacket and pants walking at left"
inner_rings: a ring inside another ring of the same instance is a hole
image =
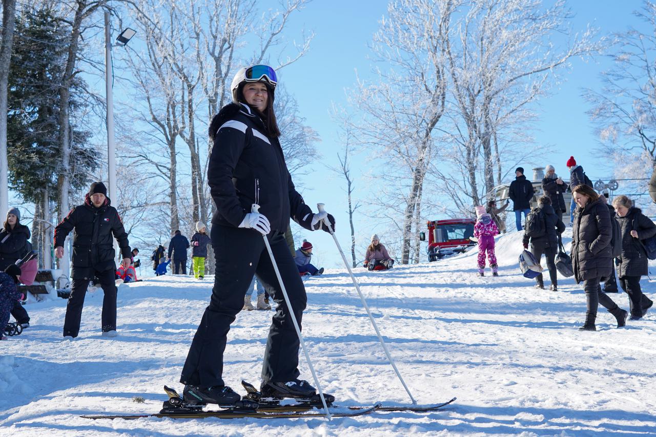
[[[73,287],[66,305],[64,338],[77,337],[82,316],[84,298],[89,281],[94,276],[100,280],[104,292],[102,300],[102,335],[116,336],[116,284],[113,238],[119,242],[123,255],[123,268],[130,266],[131,251],[127,233],[121,217],[107,197],[107,188],[102,182],[93,182],[83,205],[68,213],[68,216],[54,228],[54,254],[64,257],[64,240],[73,234]],[[113,238],[112,238],[113,234]]]

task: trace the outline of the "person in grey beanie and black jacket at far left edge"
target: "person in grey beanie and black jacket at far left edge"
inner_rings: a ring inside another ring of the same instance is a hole
[[[0,272],[28,254],[31,250],[28,239],[30,239],[30,228],[20,224],[20,211],[18,208],[9,209],[7,220],[0,231]],[[30,315],[17,299],[13,301],[11,315],[23,329],[30,327]]]

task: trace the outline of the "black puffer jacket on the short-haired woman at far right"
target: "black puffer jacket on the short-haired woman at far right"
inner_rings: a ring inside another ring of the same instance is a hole
[[[642,214],[638,208],[631,208],[625,217],[615,216],[622,228],[622,255],[618,257],[618,278],[625,276],[644,276],[648,274],[647,252],[638,238],[645,239],[656,234],[656,224]],[[631,231],[638,231],[638,238]]]

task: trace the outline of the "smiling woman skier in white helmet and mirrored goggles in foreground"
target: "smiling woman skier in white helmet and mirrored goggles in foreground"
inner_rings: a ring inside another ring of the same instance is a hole
[[[233,103],[224,106],[209,126],[214,146],[207,182],[216,205],[210,235],[216,273],[209,306],[180,375],[183,397],[189,403],[234,405],[241,399],[224,382],[223,354],[230,325],[243,308],[254,274],[274,291],[277,304],[264,351],[262,396],[316,394],[307,381],[298,379],[300,342],[263,237],[270,243],[300,326],[307,296],[285,241],[289,218],[307,230],[325,232],[329,230],[324,220],[334,229],[335,218],[325,211],[312,213],[291,180],[274,114],[276,84],[276,72],[269,66],[241,68],[231,85]],[[252,205],[259,205],[259,211]]]

